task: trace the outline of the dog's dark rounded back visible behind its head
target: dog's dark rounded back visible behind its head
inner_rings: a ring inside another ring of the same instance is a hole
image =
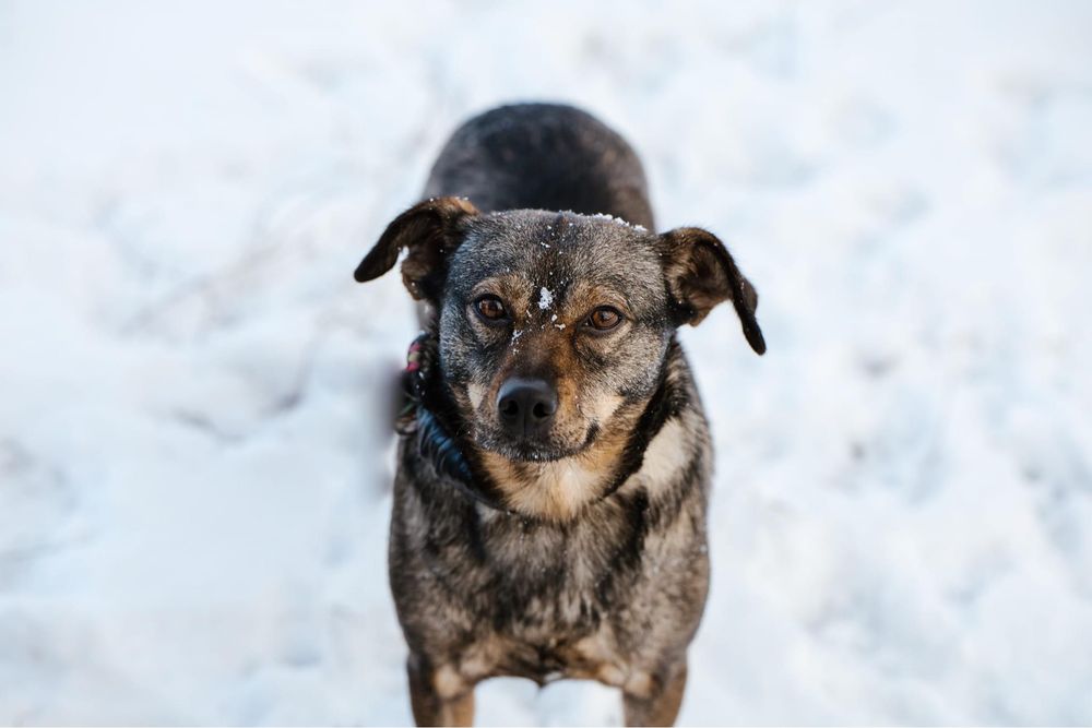
[[[654,227],[637,154],[571,106],[502,106],[464,123],[425,187],[426,198],[448,195],[470,198],[483,212],[568,210]]]

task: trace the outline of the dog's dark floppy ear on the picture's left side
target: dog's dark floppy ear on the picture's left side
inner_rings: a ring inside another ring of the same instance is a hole
[[[463,241],[464,224],[477,207],[463,198],[434,198],[419,202],[394,218],[376,247],[356,266],[359,283],[390,271],[403,248],[402,282],[417,300],[439,302],[448,271],[447,256]]]

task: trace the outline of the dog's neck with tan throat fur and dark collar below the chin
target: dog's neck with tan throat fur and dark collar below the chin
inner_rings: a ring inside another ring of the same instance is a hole
[[[680,414],[685,396],[670,371],[678,356],[678,345],[672,342],[653,394],[616,415],[614,434],[602,435],[572,457],[524,463],[483,451],[458,434],[466,428],[434,366],[436,337],[426,332],[410,348],[404,380],[407,409],[399,431],[415,433],[418,453],[437,475],[486,506],[524,517],[569,521],[640,470],[650,443]]]

